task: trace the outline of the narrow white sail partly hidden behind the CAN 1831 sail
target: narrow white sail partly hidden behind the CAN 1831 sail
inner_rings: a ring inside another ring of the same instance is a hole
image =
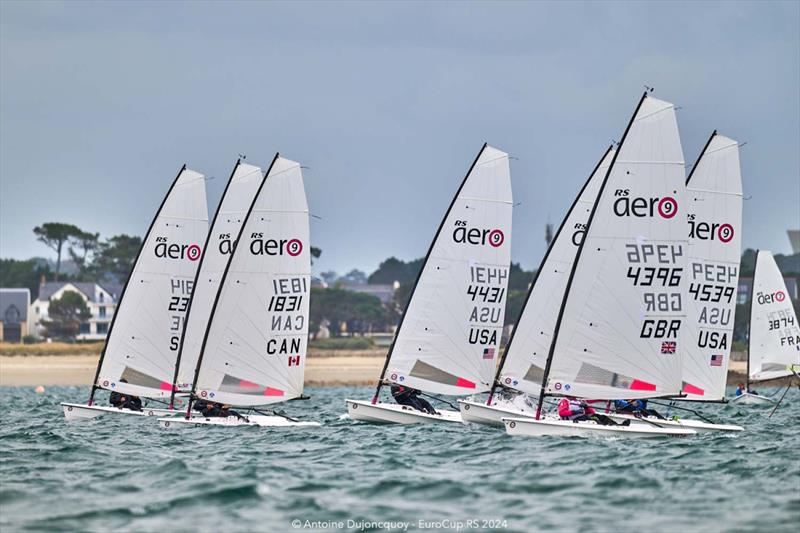
[[[191,390],[197,360],[200,357],[200,347],[203,344],[225,265],[228,264],[233,243],[239,235],[244,217],[253,203],[253,197],[262,179],[260,168],[237,162],[220,200],[206,241],[205,253],[200,260],[194,294],[187,310],[176,381],[176,386],[180,390]]]

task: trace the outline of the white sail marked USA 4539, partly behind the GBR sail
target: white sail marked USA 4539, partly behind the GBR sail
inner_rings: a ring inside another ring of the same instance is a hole
[[[683,392],[721,400],[728,378],[742,229],[739,144],[716,132],[686,182],[688,295],[683,341]]]

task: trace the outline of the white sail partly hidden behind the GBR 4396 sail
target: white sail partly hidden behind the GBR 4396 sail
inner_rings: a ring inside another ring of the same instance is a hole
[[[506,348],[500,372],[500,383],[506,387],[529,394],[538,394],[542,387],[547,354],[575,254],[613,157],[614,150],[609,148],[567,212],[539,267]]]

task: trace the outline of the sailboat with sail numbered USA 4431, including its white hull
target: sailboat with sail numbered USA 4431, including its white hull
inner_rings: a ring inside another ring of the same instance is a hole
[[[351,419],[395,424],[462,422],[379,402],[384,384],[468,395],[492,385],[511,262],[508,154],[483,145],[428,249],[372,401],[346,400]]]

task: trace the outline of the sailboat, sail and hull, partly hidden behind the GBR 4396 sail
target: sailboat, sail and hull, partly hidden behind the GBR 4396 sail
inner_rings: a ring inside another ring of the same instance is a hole
[[[535,405],[528,405],[525,395],[538,394],[541,388],[567,279],[614,152],[613,147],[606,150],[550,242],[500,359],[488,400],[458,400],[461,418],[465,422],[503,426],[503,417],[536,417]],[[498,401],[495,395],[498,387],[523,394],[514,395],[508,401]]]

